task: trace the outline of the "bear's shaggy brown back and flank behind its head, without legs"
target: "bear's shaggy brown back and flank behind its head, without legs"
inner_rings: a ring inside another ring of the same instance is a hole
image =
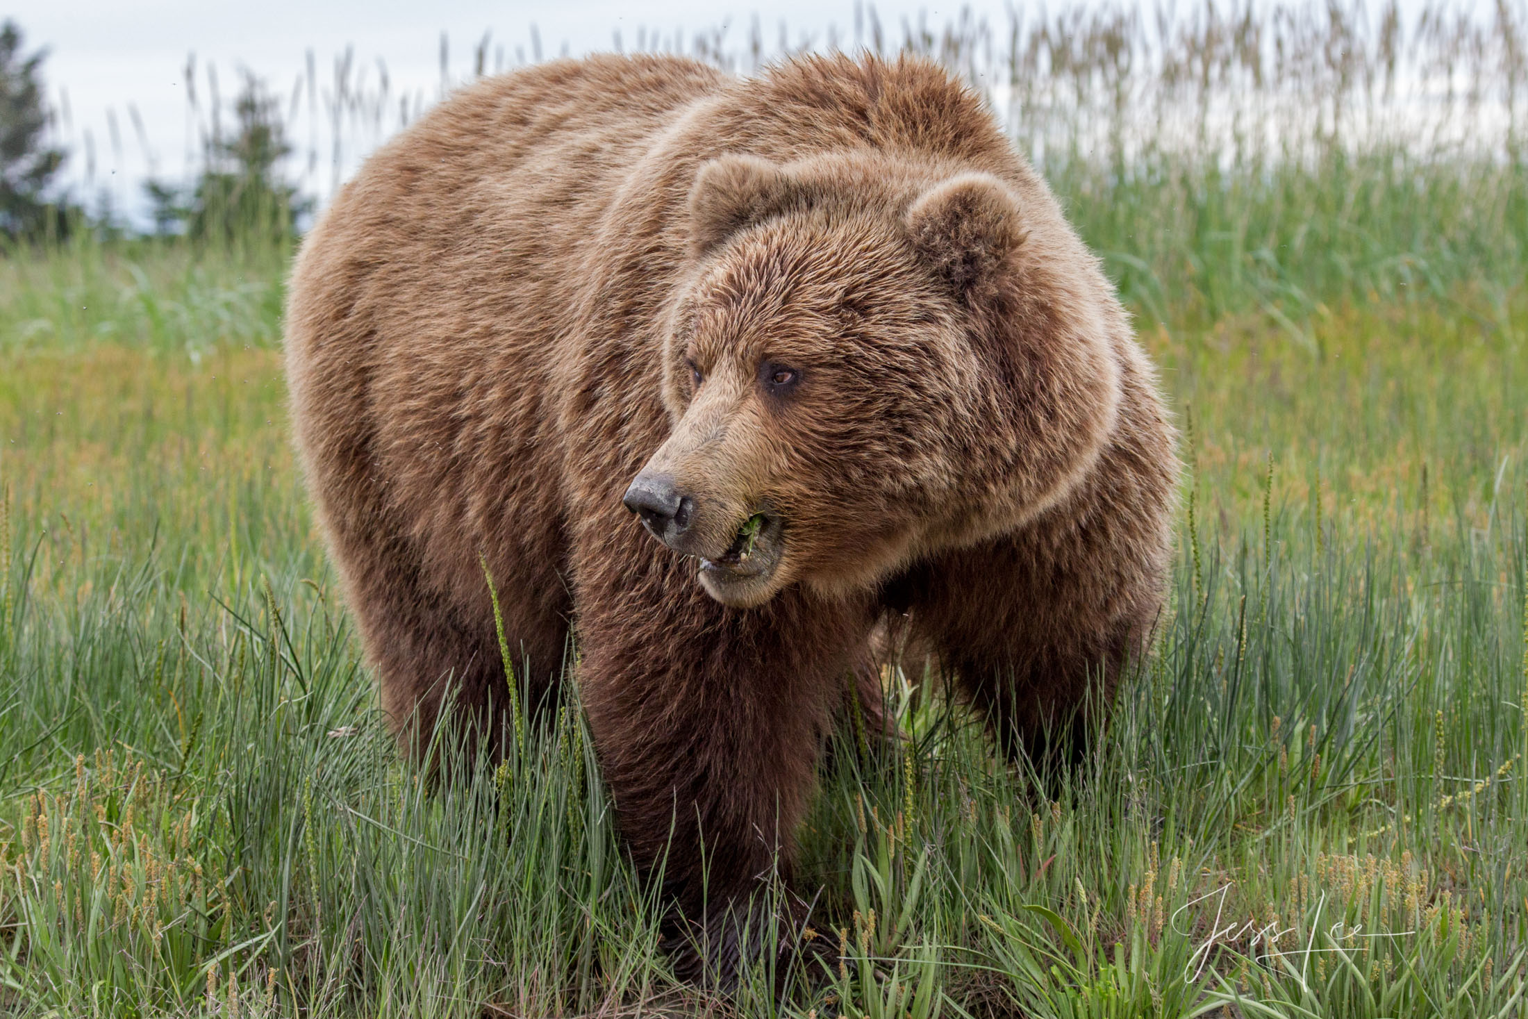
[[[353,603],[475,620],[483,555],[562,619],[567,506],[622,513],[668,429],[660,309],[695,168],[834,150],[995,173],[1070,238],[981,99],[918,60],[555,61],[463,89],[368,159],[287,310],[298,446]]]

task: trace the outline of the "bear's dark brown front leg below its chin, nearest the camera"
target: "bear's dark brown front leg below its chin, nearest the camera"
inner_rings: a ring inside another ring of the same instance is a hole
[[[652,550],[636,573],[594,570],[578,588],[579,687],[620,833],[645,877],[662,872],[681,979],[730,987],[795,917],[753,897],[790,883],[793,834],[843,698],[863,610],[787,590],[726,608],[694,562]]]

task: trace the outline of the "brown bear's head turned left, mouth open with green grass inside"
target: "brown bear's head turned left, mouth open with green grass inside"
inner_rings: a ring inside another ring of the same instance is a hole
[[[717,600],[842,594],[1062,500],[1123,313],[1044,185],[876,153],[700,167],[663,310],[672,431],[625,503]]]

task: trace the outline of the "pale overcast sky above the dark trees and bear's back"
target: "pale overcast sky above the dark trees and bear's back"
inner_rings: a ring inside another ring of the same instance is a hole
[[[966,6],[993,23],[1007,20],[1004,0],[973,0]],[[225,102],[237,90],[240,67],[260,75],[275,93],[290,96],[310,50],[316,58],[319,84],[327,86],[333,79],[335,60],[348,46],[354,47],[356,66],[367,69],[370,81],[376,81],[376,63],[380,60],[394,95],[408,92],[432,101],[440,93],[442,32],[449,40],[451,72],[460,78],[468,73],[472,50],[484,32],[492,34],[490,53],[503,47],[510,64],[516,47],[529,57],[533,24],[539,31],[544,55],[556,55],[564,46],[575,55],[613,49],[616,31],[630,49],[639,27],[659,29],[666,37],[683,29],[686,37],[692,37],[700,29],[726,24],[727,38],[741,47],[755,14],[770,46],[779,37],[781,21],[790,27],[792,44],[804,32],[817,41],[825,40],[830,24],[848,40],[854,26],[854,0],[772,0],[764,5],[700,0],[11,0],[6,8],[0,17],[11,17],[21,26],[28,52],[47,47],[47,92],[60,113],[67,105],[60,134],[72,150],[67,179],[76,194],[86,189],[93,162],[92,189],[108,189],[119,206],[139,218],[144,209],[142,180],[151,173],[171,180],[183,179],[188,148],[196,151],[194,133],[188,131],[183,81],[188,53],[197,57],[197,89],[203,102],[208,64],[217,69]],[[917,21],[920,14],[931,24],[943,24],[960,8],[880,0],[876,11],[889,29],[900,26],[905,17]],[[490,67],[492,63],[490,55]],[[131,118],[133,110],[144,125],[142,139]],[[298,124],[293,141],[299,148],[309,142],[306,130]],[[303,174],[303,167],[296,165],[301,162],[299,153],[293,160],[295,176]],[[347,153],[344,163],[342,173],[348,173],[354,154]],[[309,186],[325,191],[327,176],[327,165],[321,167]]]

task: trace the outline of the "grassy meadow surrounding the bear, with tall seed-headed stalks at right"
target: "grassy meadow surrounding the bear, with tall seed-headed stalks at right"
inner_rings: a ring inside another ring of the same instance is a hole
[[[1528,1014],[1528,15],[1392,11],[862,26],[1002,86],[1187,471],[1054,797],[888,663],[909,738],[839,733],[802,833],[843,962],[784,998],[671,979],[576,698],[448,788],[396,753],[289,445],[290,241],[8,251],[0,1013]]]

